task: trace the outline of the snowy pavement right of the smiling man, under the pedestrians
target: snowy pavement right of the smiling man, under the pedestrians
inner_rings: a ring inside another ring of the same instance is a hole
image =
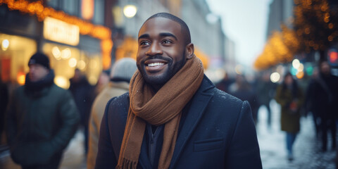
[[[320,151],[320,140],[315,138],[315,129],[311,115],[301,118],[301,131],[294,143],[294,161],[287,161],[285,133],[280,130],[280,106],[275,101],[270,103],[272,127],[266,125],[267,111],[261,107],[258,113],[258,143],[264,169],[334,169],[336,151]],[[330,134],[329,134],[330,136]],[[328,139],[330,140],[330,138]]]

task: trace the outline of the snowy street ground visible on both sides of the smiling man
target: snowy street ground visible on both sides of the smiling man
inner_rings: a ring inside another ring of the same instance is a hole
[[[320,152],[320,142],[315,138],[312,117],[301,118],[301,132],[296,138],[294,144],[294,161],[287,160],[285,149],[285,135],[280,131],[280,113],[279,106],[275,101],[271,101],[272,127],[270,130],[266,125],[266,109],[261,107],[258,112],[258,142],[261,147],[261,158],[263,168],[265,169],[334,169],[334,159],[336,152],[328,147],[328,151]],[[330,139],[329,139],[330,140]],[[75,137],[68,145],[61,169],[82,169],[86,168],[85,158],[83,155],[83,136],[77,132]],[[331,145],[330,142],[328,145]],[[244,161],[245,162],[245,161]],[[16,169],[20,168],[15,165],[9,157],[8,151],[0,154],[0,168]]]

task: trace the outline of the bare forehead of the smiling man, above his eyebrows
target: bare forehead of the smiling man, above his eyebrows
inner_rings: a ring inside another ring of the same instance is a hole
[[[177,32],[180,33],[181,25],[168,18],[156,17],[146,20],[139,29],[139,36],[149,32]]]

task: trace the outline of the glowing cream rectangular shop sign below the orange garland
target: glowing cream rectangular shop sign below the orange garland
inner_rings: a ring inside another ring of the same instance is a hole
[[[79,27],[65,23],[62,20],[46,17],[44,19],[44,38],[54,42],[70,44],[76,46],[79,44]]]

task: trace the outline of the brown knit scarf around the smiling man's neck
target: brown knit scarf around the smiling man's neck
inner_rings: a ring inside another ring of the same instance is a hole
[[[182,109],[199,89],[203,77],[203,65],[193,56],[154,94],[137,70],[130,80],[130,108],[116,168],[137,167],[146,122],[165,124],[158,168],[169,168]]]

